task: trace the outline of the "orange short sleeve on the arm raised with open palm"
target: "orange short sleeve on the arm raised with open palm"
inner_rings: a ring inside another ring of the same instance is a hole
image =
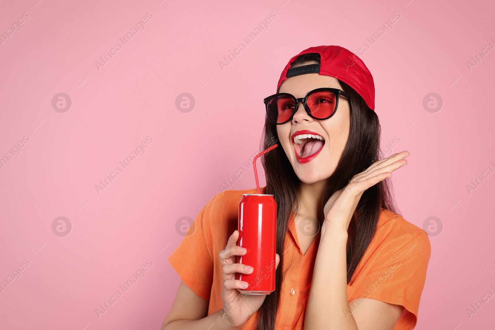
[[[369,298],[401,305],[404,311],[394,330],[413,329],[431,254],[428,235],[421,231],[412,239],[395,237],[382,244],[377,252],[379,257],[370,271],[353,285],[356,289],[349,301]]]

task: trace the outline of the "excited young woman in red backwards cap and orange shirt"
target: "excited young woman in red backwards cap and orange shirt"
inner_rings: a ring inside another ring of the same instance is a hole
[[[238,205],[225,190],[202,210],[169,262],[180,275],[167,330],[413,329],[430,242],[394,207],[387,178],[408,151],[381,159],[374,83],[343,47],[294,56],[265,98],[262,159],[277,202],[276,289],[244,295]],[[380,160],[379,160],[380,159]]]

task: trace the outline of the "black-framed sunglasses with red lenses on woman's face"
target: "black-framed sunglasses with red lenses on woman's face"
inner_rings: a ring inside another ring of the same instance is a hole
[[[349,95],[336,88],[318,88],[309,92],[306,97],[296,98],[289,93],[277,93],[266,97],[263,102],[268,120],[281,125],[292,120],[299,102],[302,102],[311,118],[324,120],[332,117],[339,105],[339,95],[349,99]]]

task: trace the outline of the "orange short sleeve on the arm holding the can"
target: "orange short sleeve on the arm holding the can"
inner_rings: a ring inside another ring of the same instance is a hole
[[[199,212],[186,236],[168,257],[182,282],[208,301],[213,283],[213,255],[206,208],[213,199]]]

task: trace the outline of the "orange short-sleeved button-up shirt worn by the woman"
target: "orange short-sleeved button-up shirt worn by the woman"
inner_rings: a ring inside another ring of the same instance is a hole
[[[243,193],[256,193],[256,189],[224,190],[213,197],[199,212],[195,226],[190,227],[187,236],[168,257],[182,281],[209,301],[208,315],[222,308],[222,264],[218,254],[237,229]],[[275,330],[303,328],[320,236],[316,236],[303,255],[291,216],[284,243],[283,282]],[[401,305],[404,311],[394,330],[414,328],[430,252],[425,231],[382,209],[376,234],[347,285],[348,301],[357,299],[351,304],[351,311],[359,308],[363,298]],[[256,315],[242,329],[256,329]]]

